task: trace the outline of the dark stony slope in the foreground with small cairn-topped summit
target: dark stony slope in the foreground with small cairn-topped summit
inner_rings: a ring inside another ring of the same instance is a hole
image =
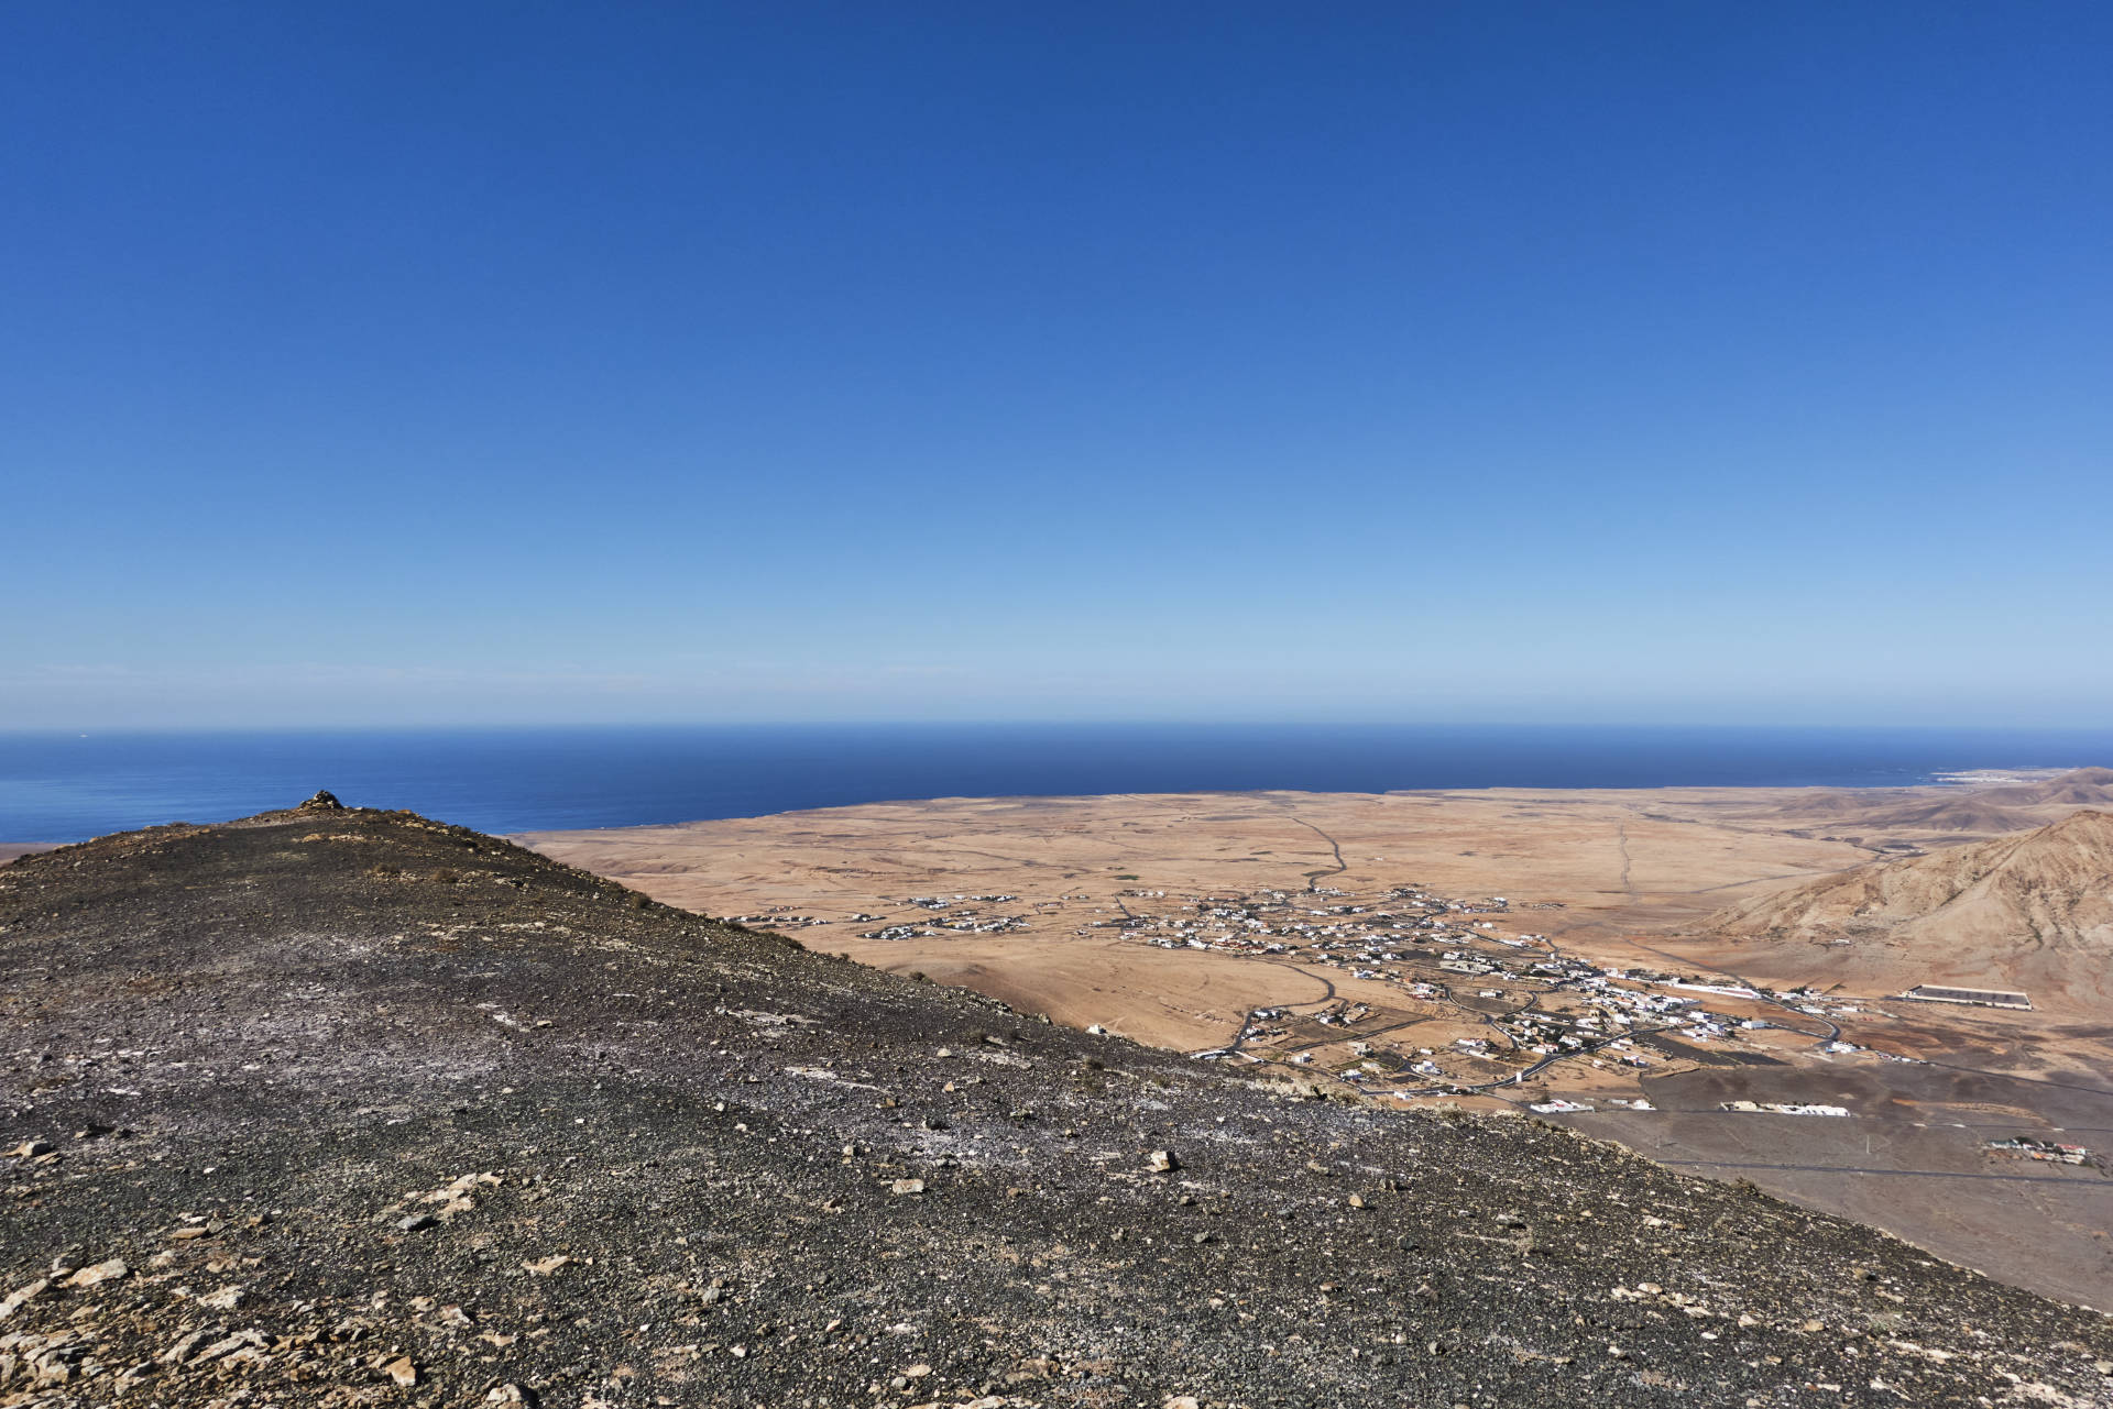
[[[2113,1403],[1870,1229],[408,813],[15,862],[0,974],[0,1405]]]

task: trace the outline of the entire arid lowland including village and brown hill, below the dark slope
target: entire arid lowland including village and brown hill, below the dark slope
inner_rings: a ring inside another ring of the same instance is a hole
[[[1316,1096],[1532,1107],[2113,1308],[2105,805],[2113,771],[2083,769],[938,799],[520,841]]]

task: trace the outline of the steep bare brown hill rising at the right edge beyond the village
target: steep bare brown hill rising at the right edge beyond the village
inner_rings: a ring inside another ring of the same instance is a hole
[[[1845,982],[1971,982],[2098,1001],[2113,957],[2113,815],[2077,811],[2033,832],[1857,866],[1739,904],[1712,932]]]

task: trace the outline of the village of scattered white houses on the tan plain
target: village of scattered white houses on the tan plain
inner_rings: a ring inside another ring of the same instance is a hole
[[[1454,898],[1416,883],[1357,894],[1306,889],[1168,894],[1126,887],[1025,902],[1016,894],[902,896],[892,913],[843,921],[790,908],[735,917],[771,929],[871,925],[860,940],[900,942],[1116,932],[1158,948],[1280,963],[1327,997],[1245,1014],[1202,1060],[1274,1067],[1397,1101],[1494,1094],[1517,1101],[1559,1079],[1572,1098],[1534,1109],[1589,1111],[1585,1096],[1652,1109],[1642,1073],[1769,1060],[1773,1052],[1853,1054],[1834,1018],[1853,1003],[1811,991],[1762,991],[1722,978],[1610,967],[1528,932],[1530,908],[1504,896]]]

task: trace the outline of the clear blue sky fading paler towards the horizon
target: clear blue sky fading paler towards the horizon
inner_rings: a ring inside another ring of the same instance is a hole
[[[2113,6],[13,4],[0,727],[2113,716]]]

